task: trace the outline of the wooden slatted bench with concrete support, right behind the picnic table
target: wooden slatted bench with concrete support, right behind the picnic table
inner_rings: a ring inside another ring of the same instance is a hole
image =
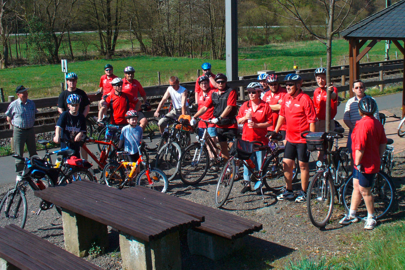
[[[177,209],[188,213],[197,211],[205,216],[205,221],[200,226],[188,230],[187,241],[191,254],[203,255],[216,260],[240,249],[243,237],[260,231],[261,223],[230,214],[228,212],[196,204],[186,199],[158,192],[142,186],[126,189],[126,193],[136,193],[142,190],[145,194],[160,198],[162,206]]]

